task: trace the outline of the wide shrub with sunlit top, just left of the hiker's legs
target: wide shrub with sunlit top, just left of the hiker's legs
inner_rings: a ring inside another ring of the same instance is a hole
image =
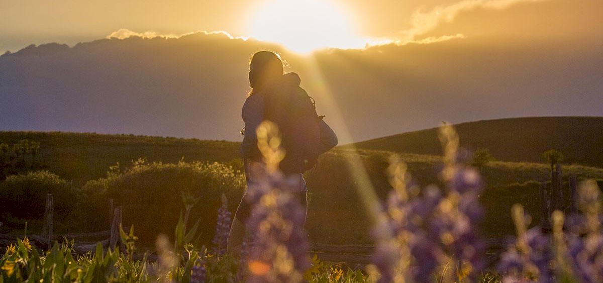
[[[189,227],[200,220],[201,241],[209,243],[215,229],[221,195],[226,194],[229,210],[235,211],[245,188],[245,177],[217,162],[179,162],[177,164],[134,162],[122,172],[110,172],[106,178],[87,182],[84,203],[89,207],[89,229],[109,227],[108,200],[121,205],[124,226],[134,224],[140,240],[153,243],[159,234],[172,235],[183,212],[183,196],[195,199]]]

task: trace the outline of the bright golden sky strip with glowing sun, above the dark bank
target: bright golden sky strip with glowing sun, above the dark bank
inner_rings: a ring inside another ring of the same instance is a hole
[[[596,37],[602,13],[600,0],[0,0],[0,50],[73,45],[120,29],[226,31],[293,49],[312,40],[305,49],[484,34]]]

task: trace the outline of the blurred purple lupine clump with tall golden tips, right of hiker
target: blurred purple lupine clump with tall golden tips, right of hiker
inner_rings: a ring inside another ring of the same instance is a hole
[[[374,231],[378,282],[462,282],[475,279],[484,267],[485,245],[478,235],[484,215],[478,200],[481,178],[456,162],[458,136],[451,126],[441,128],[440,138],[445,194],[435,186],[407,189],[411,177],[406,165],[399,157],[391,158],[388,173],[394,191]]]

